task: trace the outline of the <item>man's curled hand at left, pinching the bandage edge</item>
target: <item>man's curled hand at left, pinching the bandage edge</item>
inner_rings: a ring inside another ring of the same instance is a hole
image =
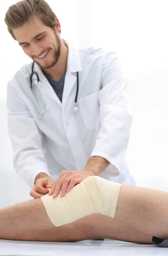
[[[41,198],[43,195],[48,194],[48,189],[54,184],[54,179],[51,177],[39,178],[36,180],[33,188],[31,189],[30,195],[34,198]]]

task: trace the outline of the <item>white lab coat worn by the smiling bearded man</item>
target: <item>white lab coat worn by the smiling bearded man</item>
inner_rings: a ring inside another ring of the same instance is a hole
[[[62,103],[40,66],[48,106],[39,116],[30,86],[32,63],[24,65],[7,87],[8,128],[14,169],[30,186],[40,172],[54,179],[63,170],[82,170],[91,156],[111,164],[100,175],[135,185],[125,162],[132,116],[127,110],[125,80],[114,52],[101,48],[74,49],[68,45],[68,64]],[[73,114],[79,72],[79,110]]]

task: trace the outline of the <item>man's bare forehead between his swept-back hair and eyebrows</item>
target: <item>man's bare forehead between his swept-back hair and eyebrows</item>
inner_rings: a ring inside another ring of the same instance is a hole
[[[18,42],[31,41],[37,34],[48,29],[39,17],[32,17],[23,26],[13,29],[13,33]]]

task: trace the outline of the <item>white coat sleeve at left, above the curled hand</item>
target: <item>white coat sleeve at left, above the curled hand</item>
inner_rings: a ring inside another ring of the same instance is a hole
[[[32,188],[40,172],[48,172],[43,152],[43,134],[25,105],[17,83],[9,81],[7,86],[8,131],[13,149],[14,169]]]

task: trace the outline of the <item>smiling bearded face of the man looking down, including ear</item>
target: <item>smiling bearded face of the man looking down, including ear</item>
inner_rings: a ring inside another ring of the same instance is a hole
[[[46,26],[39,17],[33,17],[13,33],[23,51],[42,69],[54,67],[60,56],[60,23],[55,19],[55,28]]]

